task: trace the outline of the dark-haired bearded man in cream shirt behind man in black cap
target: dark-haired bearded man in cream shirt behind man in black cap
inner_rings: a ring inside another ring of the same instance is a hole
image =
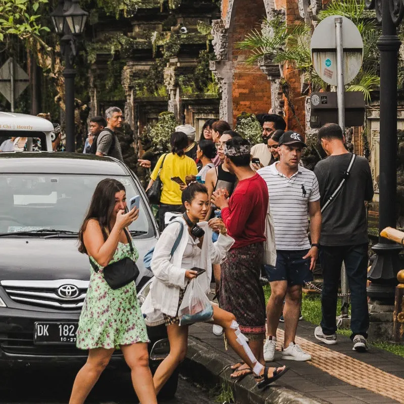
[[[272,139],[272,135],[274,135],[275,131],[286,129],[286,122],[280,115],[276,114],[268,114],[263,117],[263,125],[262,125],[262,138],[263,142],[256,144],[251,147],[251,159],[259,159],[257,163],[252,162],[252,168],[255,170],[259,170],[261,167],[266,167],[275,162],[274,153],[277,148],[277,140]]]

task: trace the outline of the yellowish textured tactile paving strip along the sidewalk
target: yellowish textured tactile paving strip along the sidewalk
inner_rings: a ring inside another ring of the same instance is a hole
[[[283,330],[278,328],[276,338],[279,350],[281,350],[280,341],[283,341],[283,336]],[[365,388],[404,403],[404,379],[305,338],[296,337],[295,341],[312,355],[312,360],[308,364],[353,386]],[[293,369],[293,366],[291,368]]]

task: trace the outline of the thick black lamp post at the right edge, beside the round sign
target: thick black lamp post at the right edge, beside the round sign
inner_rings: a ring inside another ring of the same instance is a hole
[[[380,50],[380,180],[379,233],[385,227],[396,227],[396,153],[397,153],[397,66],[401,42],[396,27],[404,16],[404,0],[367,0],[376,10],[382,24]],[[368,295],[373,300],[392,304],[399,270],[401,247],[383,237],[373,247],[376,259],[369,271]]]

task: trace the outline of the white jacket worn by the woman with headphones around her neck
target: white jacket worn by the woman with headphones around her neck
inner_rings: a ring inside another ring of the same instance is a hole
[[[184,231],[181,241],[171,257],[171,249],[180,233],[180,223],[183,224]],[[180,289],[185,289],[188,283],[188,279],[185,278],[187,269],[193,267],[206,269],[207,271],[199,275],[196,281],[206,294],[210,292],[212,264],[220,264],[225,260],[227,251],[234,244],[234,239],[228,235],[219,234],[218,241],[213,243],[212,229],[208,226],[208,222],[200,222],[198,225],[205,230],[204,241],[202,248],[192,245],[192,248],[196,247],[200,252],[197,252],[197,255],[191,259],[188,226],[182,217],[174,219],[157,241],[151,259],[151,271],[155,277],[151,283],[150,292],[141,307],[142,313],[146,315],[147,325],[163,324],[163,313],[172,317],[177,314]],[[187,252],[185,252],[186,250]],[[184,268],[190,265],[190,268]]]

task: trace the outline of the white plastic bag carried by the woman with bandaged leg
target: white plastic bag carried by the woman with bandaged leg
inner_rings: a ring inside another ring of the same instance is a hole
[[[178,309],[180,325],[201,323],[210,320],[212,316],[213,307],[208,296],[199,286],[196,278],[191,279]]]

